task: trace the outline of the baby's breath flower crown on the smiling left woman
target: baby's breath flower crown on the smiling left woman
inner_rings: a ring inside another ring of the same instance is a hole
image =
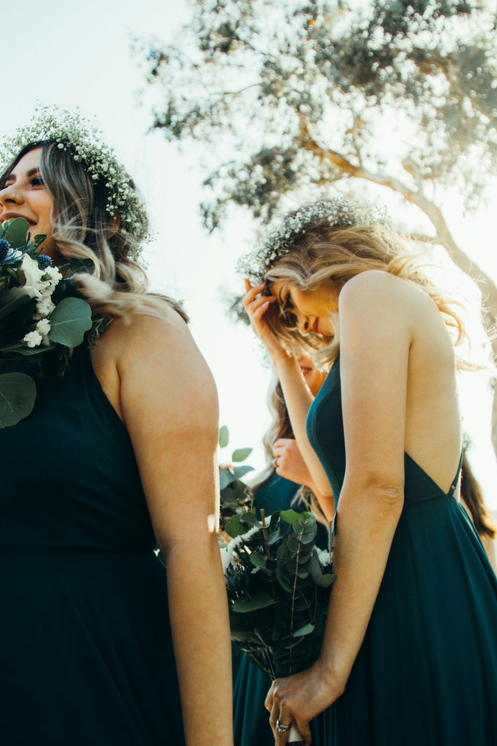
[[[107,189],[107,212],[118,215],[121,226],[137,241],[148,237],[145,205],[130,186],[130,176],[115,157],[114,149],[101,140],[101,132],[79,112],[59,107],[35,109],[32,122],[3,140],[0,147],[2,170],[31,142],[51,140],[61,150],[69,150],[76,161],[84,163],[92,179],[104,181]]]

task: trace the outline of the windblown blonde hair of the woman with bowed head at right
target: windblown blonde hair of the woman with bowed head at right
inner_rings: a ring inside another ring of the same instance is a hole
[[[265,273],[265,281],[268,286],[284,281],[307,291],[326,285],[332,304],[338,309],[338,295],[347,280],[368,269],[389,272],[421,287],[434,300],[454,344],[460,345],[467,337],[460,315],[463,303],[428,278],[419,255],[406,248],[406,238],[384,225],[344,228],[330,226],[323,219],[294,239],[287,253],[282,254]],[[296,346],[314,351],[317,366],[328,369],[340,351],[338,310],[330,311],[329,319],[335,331],[331,342],[329,339],[323,342],[323,337],[314,333],[301,333],[295,316],[285,307],[279,307],[279,313],[268,315],[268,325],[287,351],[293,351]],[[456,358],[459,369],[481,367],[457,355]]]

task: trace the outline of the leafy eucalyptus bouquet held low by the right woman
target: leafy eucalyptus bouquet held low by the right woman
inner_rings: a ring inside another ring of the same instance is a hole
[[[226,530],[234,537],[221,550],[233,642],[272,679],[304,671],[319,656],[335,580],[331,548],[315,545],[314,515],[282,510],[266,519],[261,511],[259,521],[250,510]],[[289,742],[300,741],[293,730]]]

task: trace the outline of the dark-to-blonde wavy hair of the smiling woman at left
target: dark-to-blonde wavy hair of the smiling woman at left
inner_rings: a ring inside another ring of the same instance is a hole
[[[107,212],[105,180],[94,180],[84,163],[56,142],[31,142],[22,148],[0,177],[0,185],[28,152],[42,148],[39,170],[54,198],[51,222],[60,254],[90,260],[92,272],[73,275],[75,286],[88,301],[94,318],[118,319],[146,305],[163,313],[174,308],[188,322],[183,307],[165,295],[148,292],[145,270],[132,257],[139,254],[140,238],[124,231]],[[136,186],[130,180],[130,186]],[[144,226],[146,228],[146,226]]]

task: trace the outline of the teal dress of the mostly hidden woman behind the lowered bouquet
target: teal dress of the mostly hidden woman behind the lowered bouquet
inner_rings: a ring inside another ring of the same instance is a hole
[[[295,482],[273,472],[256,492],[254,505],[258,517],[261,508],[264,508],[267,516],[276,510],[288,510],[289,507],[300,511],[298,505],[292,505],[298,489]],[[318,524],[316,542],[320,548],[328,547],[328,533],[322,524]],[[264,706],[271,679],[259,671],[236,645],[232,645],[232,659],[235,746],[274,746],[269,712]],[[314,746],[325,746],[323,728],[322,717],[315,718],[311,723]]]

